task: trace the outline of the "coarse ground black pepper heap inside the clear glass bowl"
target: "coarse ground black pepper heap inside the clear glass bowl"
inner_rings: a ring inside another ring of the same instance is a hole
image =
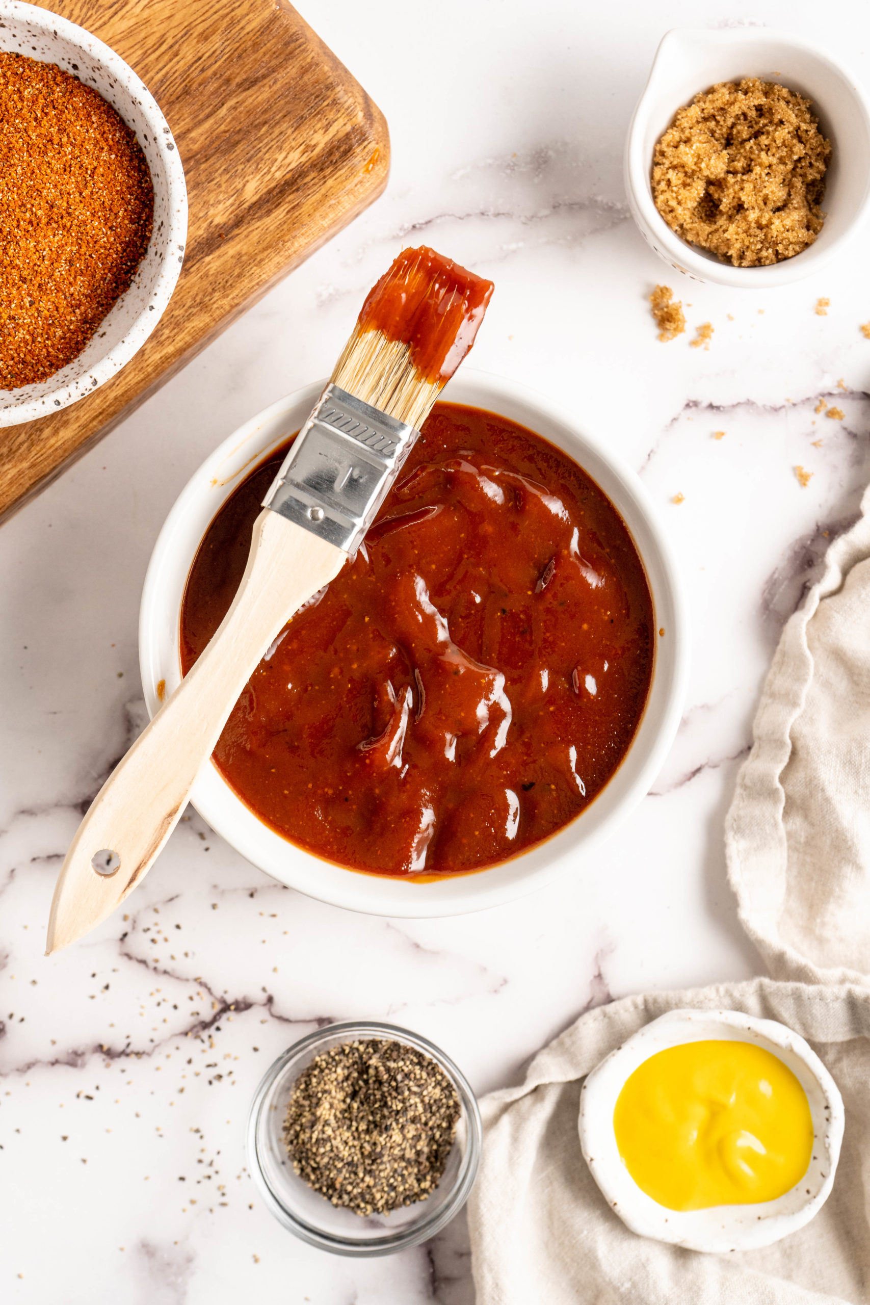
[[[284,1118],[293,1169],[357,1215],[425,1201],[443,1174],[459,1098],[423,1052],[380,1037],[316,1056]]]

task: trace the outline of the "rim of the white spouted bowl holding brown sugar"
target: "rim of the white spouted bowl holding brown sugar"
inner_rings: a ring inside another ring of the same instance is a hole
[[[866,222],[867,214],[870,213],[870,171],[867,175],[863,200],[849,226],[840,232],[836,240],[833,240],[823,251],[819,251],[817,245],[813,244],[803,249],[800,254],[794,254],[793,258],[784,258],[781,262],[771,264],[764,268],[733,268],[729,264],[716,262],[712,258],[706,257],[686,240],[678,236],[676,231],[672,231],[656,209],[655,201],[647,185],[652,161],[643,153],[643,129],[646,127],[652,93],[656,87],[656,74],[660,64],[663,63],[663,55],[668,54],[672,44],[686,38],[707,40],[711,44],[719,46],[740,46],[750,42],[770,43],[771,46],[779,44],[801,52],[807,59],[813,59],[817,64],[826,67],[830,72],[839,77],[845,86],[848,86],[856,104],[862,111],[867,136],[870,136],[870,100],[867,99],[861,82],[840,60],[819,48],[815,42],[806,40],[776,27],[672,27],[659,42],[659,47],[650,68],[647,84],[629,124],[623,155],[623,179],[629,196],[629,205],[642,234],[646,235],[648,231],[650,235],[655,238],[655,243],[652,240],[650,241],[652,248],[656,249],[656,253],[669,262],[674,270],[682,271],[697,281],[729,286],[736,290],[770,290],[776,286],[790,284],[796,281],[801,281],[803,277],[813,275],[830,262],[831,258],[836,257],[841,252],[843,247],[853,239]],[[707,85],[699,85],[698,90],[706,90]],[[674,114],[682,103],[685,103],[685,99],[681,100],[681,103],[674,104]],[[656,244],[660,244],[663,249],[656,248]]]

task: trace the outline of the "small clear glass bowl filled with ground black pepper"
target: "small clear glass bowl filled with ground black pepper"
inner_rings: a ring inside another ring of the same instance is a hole
[[[248,1156],[275,1218],[338,1255],[389,1255],[463,1207],[481,1147],[453,1061],[393,1024],[330,1024],[290,1047],[250,1107]]]

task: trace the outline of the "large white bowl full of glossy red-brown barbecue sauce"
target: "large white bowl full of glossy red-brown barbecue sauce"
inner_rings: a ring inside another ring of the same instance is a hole
[[[222,523],[245,493],[256,514],[252,474],[269,479],[321,388],[243,425],[172,508],[140,619],[151,714],[235,591],[249,529]],[[663,763],[686,679],[677,569],[608,440],[468,368],[442,399],[365,548],[269,650],[190,799],[280,882],[374,915],[479,911],[593,873]]]

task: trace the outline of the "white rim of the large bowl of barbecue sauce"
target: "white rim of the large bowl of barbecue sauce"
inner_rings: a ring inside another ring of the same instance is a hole
[[[177,609],[172,604],[176,616],[171,639],[168,639],[170,632],[160,604],[170,589],[183,592],[196,548],[198,548],[207,522],[214,518],[220,502],[215,501],[209,514],[202,517],[205,526],[197,535],[193,551],[190,552],[185,544],[185,553],[189,552],[189,556],[180,561],[177,557],[179,540],[184,535],[185,523],[202,502],[209,487],[219,485],[222,492],[226,488],[223,493],[226,499],[244,472],[262,461],[269,449],[277,448],[293,429],[301,425],[323,384],[323,381],[318,381],[307,385],[244,423],[194,471],[167,515],[149,562],[140,611],[140,668],[145,702],[150,715],[154,715],[160,707],[157,693],[158,683],[164,680],[171,692],[180,679]],[[596,848],[613,831],[613,826],[620,823],[648,792],[680,724],[686,689],[689,639],[686,602],[680,572],[668,539],[657,521],[652,500],[637,474],[608,448],[605,437],[591,435],[586,423],[566,412],[548,395],[531,390],[517,381],[463,368],[445,390],[443,398],[446,402],[471,403],[489,411],[503,412],[509,418],[513,407],[514,412],[524,414],[524,416],[514,415],[513,419],[532,429],[540,429],[536,425],[536,419],[544,423],[550,422],[553,427],[558,427],[566,433],[575,448],[579,446],[583,458],[597,459],[599,468],[605,468],[613,483],[621,487],[623,497],[622,501],[616,502],[616,506],[635,538],[635,545],[638,529],[646,531],[650,544],[646,553],[640,549],[639,552],[644,560],[648,579],[650,555],[653,555],[652,561],[660,579],[657,592],[650,581],[653,603],[657,604],[655,611],[656,629],[667,613],[668,636],[673,637],[668,638],[664,654],[661,652],[661,642],[657,645],[644,718],[622,765],[601,793],[580,816],[544,843],[535,844],[518,856],[485,870],[458,874],[432,883],[410,883],[404,880],[360,874],[343,867],[335,867],[269,830],[241,803],[222,779],[217,767],[211,762],[207,763],[197,779],[190,801],[218,834],[253,864],[290,887],[318,900],[369,915],[424,919],[487,910],[543,887],[558,874],[565,873],[569,864],[577,863],[580,856],[583,864],[587,865]],[[291,419],[290,414],[293,412],[296,412],[296,418]],[[277,428],[283,432],[280,437],[270,437],[265,433]],[[549,435],[545,437],[549,438]],[[552,442],[558,442],[558,440]],[[260,452],[252,452],[256,448]],[[582,457],[578,457],[577,453],[571,455],[583,465]],[[235,466],[236,471],[227,476],[228,466]],[[590,474],[600,483],[599,474]],[[613,499],[610,488],[604,488]],[[626,505],[637,514],[637,522],[627,519]],[[173,666],[167,666],[166,654],[162,651],[164,643],[173,649]],[[657,729],[648,719],[653,696],[659,711]],[[642,739],[643,753],[638,750]],[[629,758],[631,758],[631,766],[626,765]],[[631,774],[633,770],[634,774]],[[617,786],[620,779],[621,787],[625,790],[621,796],[618,796],[620,787]],[[605,797],[608,793],[610,793],[609,804]],[[618,800],[613,797],[614,793]],[[614,809],[609,810],[608,805],[614,806]],[[258,843],[256,850],[252,850],[249,842],[243,846],[237,831],[239,822],[247,825],[245,837]],[[273,852],[266,855],[265,848],[267,847],[274,848],[274,855]]]

